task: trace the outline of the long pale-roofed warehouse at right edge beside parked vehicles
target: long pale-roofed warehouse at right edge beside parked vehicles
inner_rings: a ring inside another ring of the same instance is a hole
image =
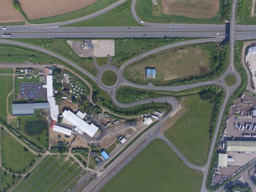
[[[226,140],[227,152],[256,152],[256,140]]]

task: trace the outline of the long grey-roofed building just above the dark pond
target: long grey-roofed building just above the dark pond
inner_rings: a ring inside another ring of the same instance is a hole
[[[49,109],[49,102],[12,104],[12,115],[33,115],[35,109]]]

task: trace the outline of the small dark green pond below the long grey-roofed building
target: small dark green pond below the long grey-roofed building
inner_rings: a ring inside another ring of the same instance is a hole
[[[25,124],[25,130],[28,135],[39,135],[45,128],[45,121],[27,121]]]

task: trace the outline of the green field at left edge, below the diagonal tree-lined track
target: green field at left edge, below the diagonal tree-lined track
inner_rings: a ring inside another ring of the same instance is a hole
[[[1,158],[2,166],[12,172],[24,173],[33,164],[37,155],[25,152],[23,145],[3,129],[1,130]]]

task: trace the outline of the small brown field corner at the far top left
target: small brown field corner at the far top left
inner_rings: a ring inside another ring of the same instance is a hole
[[[12,0],[0,0],[0,23],[21,22],[25,19],[21,13],[13,8]]]

